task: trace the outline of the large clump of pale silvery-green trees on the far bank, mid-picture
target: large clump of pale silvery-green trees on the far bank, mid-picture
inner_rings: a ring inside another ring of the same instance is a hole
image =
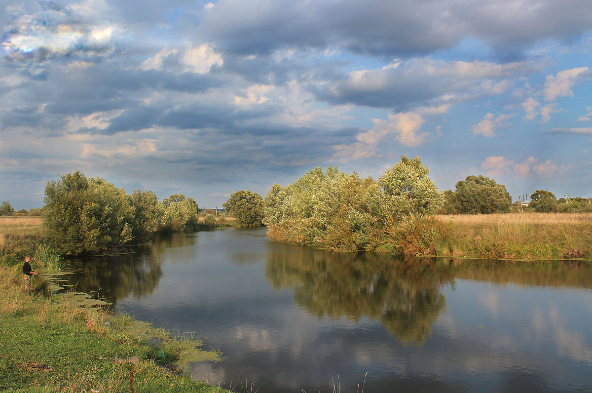
[[[398,225],[436,212],[443,196],[419,158],[401,157],[377,182],[335,167],[317,167],[265,197],[269,235],[334,250],[382,250]]]

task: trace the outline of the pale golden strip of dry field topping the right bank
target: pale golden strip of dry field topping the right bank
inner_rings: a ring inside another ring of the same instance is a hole
[[[504,213],[504,214],[464,214],[437,215],[442,221],[453,219],[459,225],[487,224],[578,224],[592,223],[592,213]]]

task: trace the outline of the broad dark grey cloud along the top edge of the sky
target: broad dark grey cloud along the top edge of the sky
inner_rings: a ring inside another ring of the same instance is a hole
[[[590,31],[588,0],[393,2],[267,0],[218,2],[199,33],[229,53],[339,47],[384,57],[426,55],[477,37],[500,56]]]

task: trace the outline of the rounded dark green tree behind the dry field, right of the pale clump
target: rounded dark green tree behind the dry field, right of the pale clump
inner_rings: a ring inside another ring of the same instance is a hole
[[[456,183],[456,212],[469,214],[507,213],[512,202],[506,186],[483,175],[468,176]]]

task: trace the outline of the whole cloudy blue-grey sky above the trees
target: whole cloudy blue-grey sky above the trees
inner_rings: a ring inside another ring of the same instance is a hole
[[[0,0],[0,200],[81,171],[220,207],[419,156],[592,197],[590,0]]]

